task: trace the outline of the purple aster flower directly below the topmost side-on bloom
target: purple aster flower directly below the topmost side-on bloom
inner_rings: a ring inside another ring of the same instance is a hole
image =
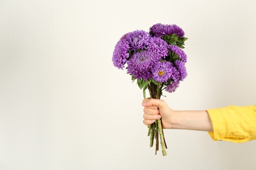
[[[161,59],[165,58],[165,56],[168,56],[167,46],[167,42],[160,37],[152,37],[148,44],[147,50],[150,52],[154,52],[156,58]]]

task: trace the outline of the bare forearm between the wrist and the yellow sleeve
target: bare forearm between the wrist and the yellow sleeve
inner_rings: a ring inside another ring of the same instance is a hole
[[[213,131],[211,118],[206,110],[175,111],[171,129]]]

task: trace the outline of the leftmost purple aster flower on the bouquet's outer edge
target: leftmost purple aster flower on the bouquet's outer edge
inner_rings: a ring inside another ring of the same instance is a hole
[[[112,61],[118,69],[123,69],[127,58],[129,58],[129,44],[125,39],[120,39],[114,49]]]

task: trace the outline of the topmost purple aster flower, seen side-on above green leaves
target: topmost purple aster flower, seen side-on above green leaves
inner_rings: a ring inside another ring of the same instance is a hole
[[[174,33],[179,37],[184,37],[184,31],[181,29],[181,27],[174,24],[154,24],[152,27],[150,27],[150,33],[156,37],[161,37],[162,35],[172,35]]]

